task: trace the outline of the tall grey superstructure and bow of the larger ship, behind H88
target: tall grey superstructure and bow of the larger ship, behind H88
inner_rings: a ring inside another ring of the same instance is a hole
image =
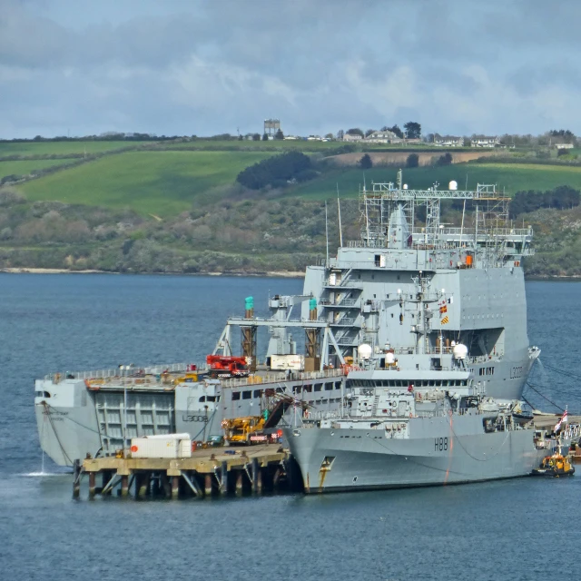
[[[307,269],[304,293],[319,298],[318,319],[332,330],[323,358],[344,364],[367,345],[379,368],[461,367],[488,396],[518,399],[538,354],[528,345],[521,267],[532,229],[511,225],[495,186],[411,190],[400,180],[363,190],[361,239]],[[446,200],[459,202],[459,227],[441,222]],[[454,358],[457,344],[463,359]]]

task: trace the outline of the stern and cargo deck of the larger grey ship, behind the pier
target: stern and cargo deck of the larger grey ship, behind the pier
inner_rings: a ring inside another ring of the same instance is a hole
[[[187,433],[194,441],[215,441],[225,435],[230,419],[266,418],[261,438],[269,438],[303,409],[313,414],[340,409],[345,370],[320,357],[321,337],[325,346],[336,341],[332,323],[318,318],[317,300],[310,294],[275,295],[266,318],[254,315],[252,297],[245,307],[243,316],[227,320],[204,367],[120,365],[37,379],[34,407],[44,453],[56,464],[73,466],[87,455],[128,449],[132,438],[143,436]],[[240,356],[231,349],[236,328]],[[262,328],[269,339],[260,359]],[[303,340],[293,340],[290,331],[297,329]],[[304,355],[297,353],[298,345]]]

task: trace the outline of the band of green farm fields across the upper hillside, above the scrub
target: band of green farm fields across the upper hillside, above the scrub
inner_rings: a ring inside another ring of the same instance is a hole
[[[281,151],[294,149],[310,154],[320,176],[287,187],[276,192],[276,196],[311,200],[335,198],[338,186],[341,197],[354,197],[364,181],[368,185],[370,182],[395,182],[398,166],[404,165],[400,162],[411,151],[374,147],[370,150],[372,159],[393,165],[376,165],[362,172],[352,166],[362,153],[340,153],[340,147],[337,142],[305,141],[0,143],[0,154],[4,150],[26,156],[25,160],[0,162],[0,181],[3,175],[26,175],[33,170],[51,168],[55,171],[17,184],[28,200],[84,203],[112,210],[127,208],[143,215],[168,217],[187,211],[192,203],[205,205],[224,196],[235,197],[238,195],[236,188],[230,186],[236,175],[247,166]],[[84,153],[79,153],[85,148],[90,152],[86,160]],[[436,159],[442,153],[441,150],[422,151],[420,162]],[[453,155],[456,161],[493,153],[462,151],[453,152]],[[49,154],[76,157],[42,159]],[[31,156],[34,159],[30,159]],[[519,190],[549,190],[563,184],[581,188],[580,165],[541,162],[477,162],[473,159],[443,167],[424,165],[404,169],[404,182],[417,188],[428,188],[438,182],[440,188],[445,188],[448,182],[455,180],[458,187],[468,185],[469,189],[476,188],[477,183],[496,183],[500,191],[509,194]],[[74,166],[67,167],[70,163]],[[351,165],[346,165],[349,163]],[[58,169],[59,166],[62,169]],[[258,194],[261,196],[263,194]]]

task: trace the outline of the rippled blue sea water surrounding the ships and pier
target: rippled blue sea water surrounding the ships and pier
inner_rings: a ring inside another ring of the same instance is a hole
[[[581,470],[324,497],[74,501],[43,458],[34,379],[54,370],[203,361],[230,314],[292,279],[0,274],[0,579],[469,579],[581,576]],[[581,376],[581,286],[528,282],[541,359]],[[579,380],[531,383],[571,413]],[[551,409],[531,389],[527,399]],[[581,467],[579,467],[581,468]],[[86,497],[86,489],[83,489]]]

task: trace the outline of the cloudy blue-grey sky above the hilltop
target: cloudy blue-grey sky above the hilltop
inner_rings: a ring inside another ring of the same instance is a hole
[[[0,0],[0,138],[581,133],[581,1]]]

